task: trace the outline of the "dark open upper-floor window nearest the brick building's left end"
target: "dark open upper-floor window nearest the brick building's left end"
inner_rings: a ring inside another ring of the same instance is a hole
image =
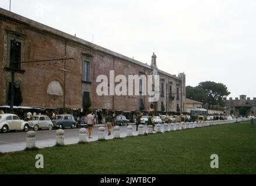
[[[22,44],[16,40],[10,40],[10,68],[20,69]]]

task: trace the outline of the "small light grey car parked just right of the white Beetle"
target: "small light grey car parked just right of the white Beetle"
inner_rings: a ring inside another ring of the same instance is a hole
[[[29,123],[31,128],[34,128],[34,131],[42,128],[48,128],[48,130],[52,130],[53,127],[51,119],[45,115],[32,116],[31,119],[27,121],[27,123]]]

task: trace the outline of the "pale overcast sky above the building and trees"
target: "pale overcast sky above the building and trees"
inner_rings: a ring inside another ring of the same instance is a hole
[[[256,97],[256,0],[12,0],[11,11],[143,63],[155,52],[187,85]]]

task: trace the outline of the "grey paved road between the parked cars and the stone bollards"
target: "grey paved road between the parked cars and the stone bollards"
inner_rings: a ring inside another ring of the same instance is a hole
[[[163,127],[163,126],[162,126]],[[92,139],[88,141],[96,141],[98,140],[98,128],[95,127],[92,133]],[[106,139],[114,138],[113,134],[108,136],[107,127],[105,127],[105,136]],[[148,131],[148,127],[144,125],[144,130]],[[133,125],[133,134],[138,135],[136,132],[136,126]],[[120,127],[120,135],[121,137],[125,137],[127,135],[127,126]],[[26,148],[26,132],[10,132],[10,133],[0,133],[0,152],[13,152],[13,151],[22,151]],[[41,130],[36,132],[36,146],[38,148],[44,148],[47,146],[55,145],[55,137],[56,130]],[[79,128],[75,129],[65,129],[64,130],[64,143],[67,144],[76,144],[79,140]]]

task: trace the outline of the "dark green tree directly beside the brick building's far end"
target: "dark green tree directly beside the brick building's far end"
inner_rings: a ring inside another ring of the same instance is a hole
[[[186,87],[186,96],[189,99],[193,99],[195,101],[206,103],[207,97],[206,92],[201,87]]]

